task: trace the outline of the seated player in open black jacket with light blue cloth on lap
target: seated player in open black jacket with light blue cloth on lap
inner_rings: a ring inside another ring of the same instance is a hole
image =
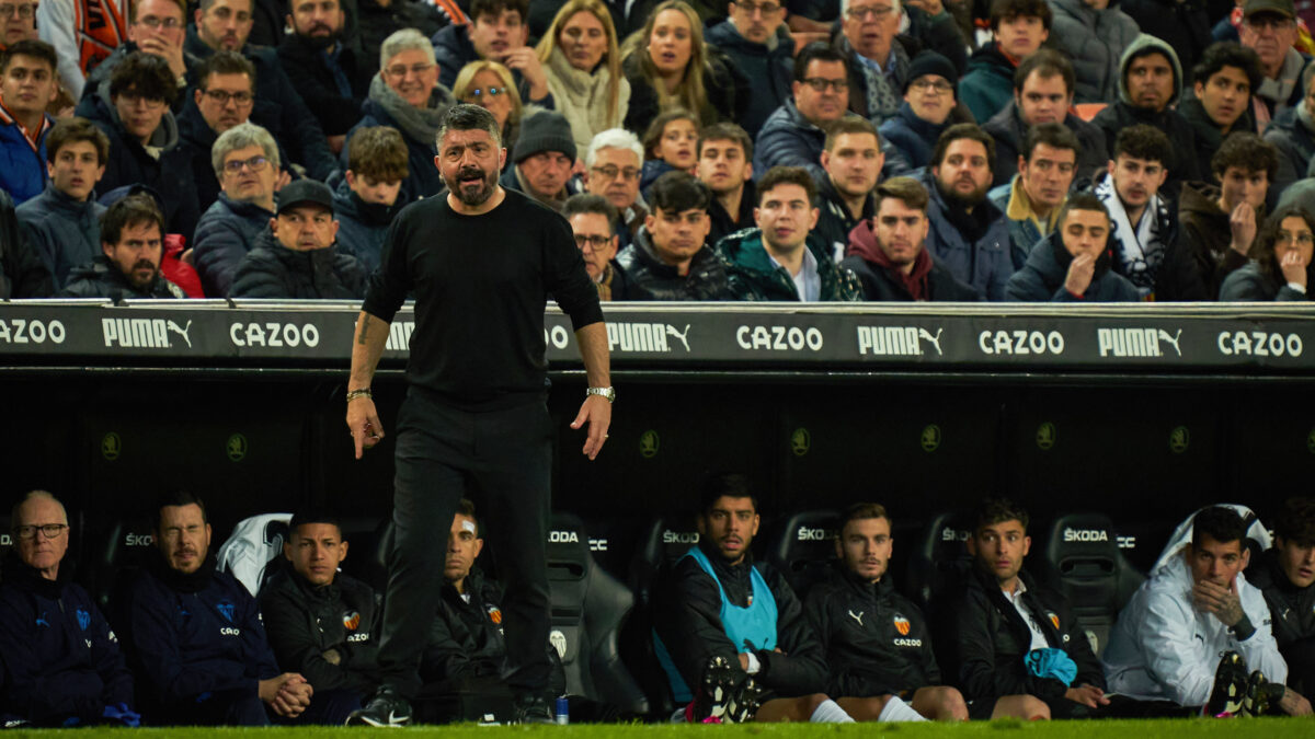
[[[1086,718],[1110,702],[1101,661],[1064,596],[1023,569],[1027,523],[1003,498],[973,517],[973,572],[952,610],[959,689],[972,718]]]

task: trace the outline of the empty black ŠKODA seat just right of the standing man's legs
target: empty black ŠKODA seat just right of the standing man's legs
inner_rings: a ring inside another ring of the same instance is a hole
[[[648,713],[648,700],[622,664],[618,646],[634,596],[593,561],[588,531],[576,515],[552,515],[548,585],[551,642],[562,655],[568,693],[626,713]]]

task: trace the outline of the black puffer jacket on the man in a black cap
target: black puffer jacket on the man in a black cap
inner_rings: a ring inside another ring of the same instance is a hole
[[[360,262],[335,246],[297,251],[283,246],[267,227],[238,263],[229,297],[363,300],[368,283]]]

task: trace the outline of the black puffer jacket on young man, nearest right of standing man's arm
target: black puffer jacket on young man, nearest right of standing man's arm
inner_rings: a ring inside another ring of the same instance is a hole
[[[726,267],[710,246],[704,246],[681,275],[654,251],[648,229],[639,229],[635,242],[617,255],[626,274],[626,300],[730,300]]]

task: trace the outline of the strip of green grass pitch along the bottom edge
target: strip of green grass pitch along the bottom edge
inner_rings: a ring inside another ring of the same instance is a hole
[[[576,725],[576,726],[508,726],[481,727],[459,726],[412,726],[404,730],[389,728],[75,728],[43,731],[5,731],[4,736],[67,736],[85,739],[113,734],[120,738],[179,738],[209,739],[263,735],[279,739],[347,739],[352,736],[435,736],[435,739],[502,739],[508,736],[534,735],[542,739],[677,739],[698,736],[714,738],[761,738],[761,739],[813,739],[830,736],[863,736],[864,739],[1160,739],[1160,738],[1201,738],[1201,739],[1308,739],[1315,736],[1315,719],[1264,718],[1264,719],[1174,719],[1174,721],[1066,721],[1066,722],[1018,722],[995,721],[963,725],[744,725],[744,726],[681,726],[681,725]]]

